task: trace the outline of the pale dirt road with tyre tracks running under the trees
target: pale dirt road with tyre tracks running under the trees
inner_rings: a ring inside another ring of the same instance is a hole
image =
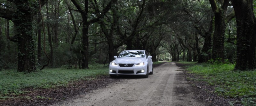
[[[193,99],[192,85],[175,63],[154,68],[148,78],[122,77],[117,77],[120,82],[51,106],[205,106]]]

